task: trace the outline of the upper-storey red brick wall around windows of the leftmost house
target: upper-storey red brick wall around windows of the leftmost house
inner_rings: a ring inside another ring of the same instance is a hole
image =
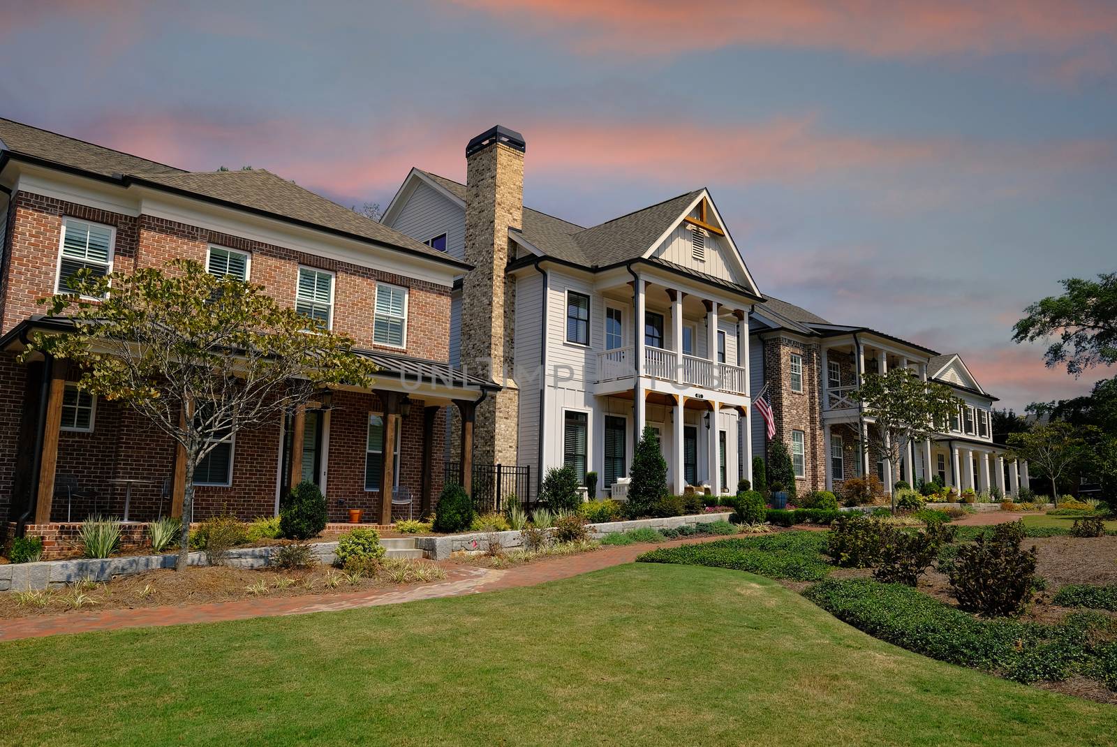
[[[151,216],[132,218],[27,192],[17,193],[12,202],[12,240],[6,258],[10,267],[4,272],[0,332],[42,313],[37,301],[55,291],[63,218],[74,217],[116,227],[113,269],[117,271],[161,267],[179,257],[204,262],[209,245],[214,243],[251,252],[251,281],[293,306],[299,265],[330,270],[336,276],[334,329],[353,337],[360,347],[449,360],[450,289],[445,286]],[[408,288],[405,351],[372,342],[378,281]]]

